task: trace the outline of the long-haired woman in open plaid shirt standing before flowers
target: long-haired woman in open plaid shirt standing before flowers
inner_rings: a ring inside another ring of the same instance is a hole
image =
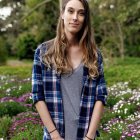
[[[106,104],[102,56],[86,0],[63,0],[55,39],[35,52],[33,102],[44,140],[93,140]]]

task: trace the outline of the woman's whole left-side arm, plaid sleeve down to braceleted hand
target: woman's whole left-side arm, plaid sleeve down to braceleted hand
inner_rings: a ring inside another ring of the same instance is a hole
[[[32,69],[32,99],[44,126],[47,128],[48,132],[52,132],[55,125],[52,121],[50,113],[48,111],[47,105],[45,103],[44,97],[44,87],[42,80],[42,62],[41,62],[41,50],[42,44],[36,49],[33,61]],[[63,140],[57,130],[50,133],[52,140]]]

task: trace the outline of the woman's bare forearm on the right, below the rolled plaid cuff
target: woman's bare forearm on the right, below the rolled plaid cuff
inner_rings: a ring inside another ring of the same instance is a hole
[[[103,114],[104,105],[101,101],[96,101],[94,110],[92,113],[89,130],[86,134],[87,137],[93,139],[96,135],[96,130],[98,128],[101,116]],[[87,137],[85,137],[85,140],[89,140]]]

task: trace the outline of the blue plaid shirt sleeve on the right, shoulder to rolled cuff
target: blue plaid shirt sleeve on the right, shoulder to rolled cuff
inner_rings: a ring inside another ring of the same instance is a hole
[[[99,77],[97,78],[96,101],[102,101],[103,105],[106,105],[108,93],[104,78],[103,58],[100,51],[98,52],[98,70]]]

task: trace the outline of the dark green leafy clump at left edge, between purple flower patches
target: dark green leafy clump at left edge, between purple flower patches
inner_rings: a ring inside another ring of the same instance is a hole
[[[27,108],[18,102],[11,101],[0,103],[0,117],[4,115],[9,115],[12,117],[18,113],[25,112],[26,110]]]

